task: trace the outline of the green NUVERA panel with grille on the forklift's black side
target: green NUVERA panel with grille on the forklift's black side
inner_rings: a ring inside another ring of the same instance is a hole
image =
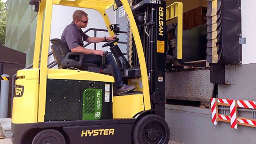
[[[83,93],[83,120],[98,120],[102,114],[102,89],[86,89]]]

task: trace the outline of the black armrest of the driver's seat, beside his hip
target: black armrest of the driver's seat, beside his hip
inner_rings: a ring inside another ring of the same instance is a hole
[[[69,52],[61,62],[62,68],[75,67],[80,69],[82,67],[83,58],[83,53]]]

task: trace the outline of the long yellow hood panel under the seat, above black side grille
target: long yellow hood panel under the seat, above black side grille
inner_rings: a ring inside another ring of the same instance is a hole
[[[114,82],[114,77],[88,71],[77,71],[71,69],[47,69],[48,79],[60,80],[87,80]]]

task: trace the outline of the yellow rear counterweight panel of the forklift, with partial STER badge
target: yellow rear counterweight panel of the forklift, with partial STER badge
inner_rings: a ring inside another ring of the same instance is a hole
[[[12,123],[36,123],[38,111],[39,69],[19,70],[15,85],[24,86],[23,96],[13,98]]]

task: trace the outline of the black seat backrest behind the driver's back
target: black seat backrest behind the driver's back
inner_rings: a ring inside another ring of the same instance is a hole
[[[70,50],[61,39],[51,39],[51,43],[51,51],[53,52],[53,57],[55,62],[58,64],[58,67],[60,68],[60,63],[64,60]]]

